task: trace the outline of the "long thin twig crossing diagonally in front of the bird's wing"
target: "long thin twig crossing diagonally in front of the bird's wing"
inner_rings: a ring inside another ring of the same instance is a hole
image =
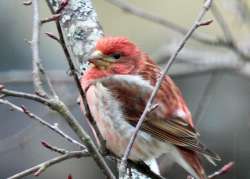
[[[153,100],[161,86],[161,83],[163,81],[163,79],[165,78],[165,75],[167,74],[171,64],[174,62],[174,60],[176,59],[178,53],[181,51],[181,49],[184,47],[184,45],[186,44],[186,42],[188,41],[188,39],[191,37],[191,35],[193,34],[193,32],[199,28],[201,26],[201,24],[204,24],[201,20],[202,18],[204,17],[204,15],[206,14],[206,12],[209,10],[210,6],[212,4],[212,0],[206,0],[204,5],[203,5],[203,8],[201,10],[201,12],[199,13],[197,19],[194,21],[192,27],[190,28],[190,30],[188,31],[188,33],[185,35],[184,39],[180,42],[180,44],[178,45],[178,48],[176,49],[175,53],[171,56],[171,58],[169,59],[169,61],[166,63],[164,69],[163,69],[163,72],[161,74],[161,76],[159,77],[159,79],[157,80],[156,82],[156,85],[153,89],[153,92],[151,93],[151,96],[150,98],[148,99],[148,102],[146,104],[146,107],[136,125],[136,128],[135,128],[135,131],[129,141],[129,144],[125,150],[125,153],[123,155],[123,158],[122,158],[122,161],[121,161],[121,167],[119,169],[119,175],[121,177],[124,177],[125,174],[126,174],[126,166],[127,166],[127,159],[128,159],[128,156],[129,156],[129,153],[133,147],[133,144],[134,144],[134,141],[136,139],[136,136],[140,130],[140,127],[146,117],[146,115],[148,114],[148,112],[150,112],[150,109],[151,109],[151,106],[152,106],[152,103],[153,103]]]

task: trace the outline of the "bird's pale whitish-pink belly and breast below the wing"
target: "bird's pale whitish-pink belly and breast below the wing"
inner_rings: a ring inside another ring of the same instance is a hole
[[[117,156],[122,156],[133,134],[134,127],[126,122],[120,104],[100,83],[96,83],[88,89],[87,99],[97,126],[106,140],[107,148]],[[145,161],[173,149],[173,145],[161,142],[140,131],[129,158]]]

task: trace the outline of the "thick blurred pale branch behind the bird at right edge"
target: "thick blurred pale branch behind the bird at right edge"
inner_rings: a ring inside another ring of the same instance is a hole
[[[162,64],[174,53],[177,44],[168,44],[158,52],[158,63]],[[250,62],[242,60],[231,51],[185,48],[177,57],[170,74],[187,75],[209,71],[224,71],[250,77]]]

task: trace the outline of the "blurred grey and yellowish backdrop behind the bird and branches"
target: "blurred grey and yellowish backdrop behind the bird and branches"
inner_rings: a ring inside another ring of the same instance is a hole
[[[200,0],[130,0],[128,2],[184,27],[190,27],[202,5]],[[240,1],[216,1],[235,39],[242,44],[250,44],[250,15],[245,13],[250,10],[244,10],[248,8],[247,5],[250,5],[250,0],[244,1],[246,3],[244,7],[239,6],[237,2]],[[159,53],[163,47],[178,42],[181,37],[178,33],[158,24],[124,13],[106,1],[93,0],[93,4],[106,35],[127,36],[156,60],[159,59]],[[50,16],[44,1],[40,1],[40,11],[41,17]],[[33,92],[30,71],[32,68],[31,50],[25,42],[25,39],[31,38],[31,14],[31,8],[23,6],[22,1],[0,1],[0,83],[4,83],[9,89]],[[209,14],[207,19],[211,17]],[[43,26],[42,31],[56,33],[53,23]],[[217,23],[212,23],[199,31],[215,37],[223,35]],[[212,46],[201,45],[194,41],[190,41],[186,47],[222,53],[227,50],[213,49]],[[207,54],[204,53],[204,55]],[[70,106],[81,124],[89,130],[76,104],[77,89],[66,74],[68,67],[63,52],[56,42],[43,34],[41,35],[41,57],[45,68],[50,71],[49,74],[60,97]],[[217,167],[204,161],[207,173],[212,173],[223,164],[234,161],[234,169],[219,178],[250,178],[248,164],[250,160],[250,78],[230,70],[188,75],[178,75],[173,72],[172,74],[191,112],[199,117],[199,121],[196,119],[194,121],[201,133],[201,140],[222,158],[222,162],[218,163]],[[208,86],[211,89],[209,93],[206,93]],[[203,101],[204,94],[206,95],[205,101]],[[27,100],[11,99],[11,101],[24,104],[35,114],[51,123],[58,123],[60,128],[74,136],[60,117],[49,111],[47,107]],[[201,113],[197,114],[201,103],[204,104],[204,108]],[[0,105],[0,114],[0,178],[6,178],[56,156],[55,153],[41,146],[42,140],[72,149],[71,145],[61,137],[27,119],[23,114],[10,111],[4,105]],[[160,160],[162,172],[167,178],[186,178],[184,170],[175,165],[166,166],[166,161],[164,157]],[[72,174],[74,179],[104,178],[90,158],[65,161],[49,168],[40,177],[66,179],[68,174]],[[27,178],[33,178],[33,176]]]

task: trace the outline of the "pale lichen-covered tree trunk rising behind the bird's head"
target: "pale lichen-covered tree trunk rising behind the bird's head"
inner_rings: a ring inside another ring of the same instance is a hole
[[[56,11],[61,1],[49,3]],[[90,0],[70,0],[61,14],[59,23],[71,58],[77,67],[84,67],[96,41],[103,36],[96,11]]]

